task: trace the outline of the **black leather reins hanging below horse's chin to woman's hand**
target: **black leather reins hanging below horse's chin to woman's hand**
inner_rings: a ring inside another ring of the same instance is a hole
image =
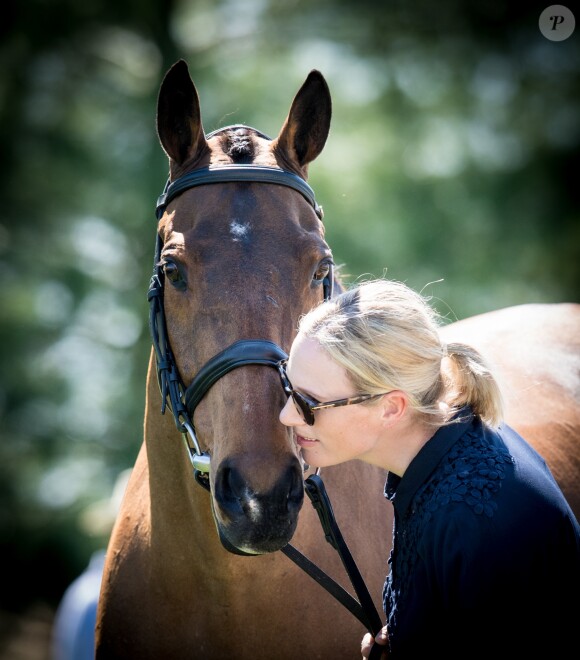
[[[342,565],[344,566],[355,593],[358,596],[358,600],[290,543],[284,546],[281,549],[281,552],[283,552],[318,584],[324,587],[324,589],[326,589],[331,596],[336,598],[341,605],[346,607],[346,609],[365,626],[374,638],[382,628],[382,621],[358,566],[356,565],[344,537],[342,536],[340,528],[338,527],[324,482],[318,474],[313,474],[304,482],[304,488],[306,494],[310,498],[312,506],[318,514],[320,524],[324,531],[324,536],[328,543],[330,543],[330,545],[338,552]],[[369,660],[378,660],[385,650],[386,648],[383,645],[375,642],[371,648]]]

